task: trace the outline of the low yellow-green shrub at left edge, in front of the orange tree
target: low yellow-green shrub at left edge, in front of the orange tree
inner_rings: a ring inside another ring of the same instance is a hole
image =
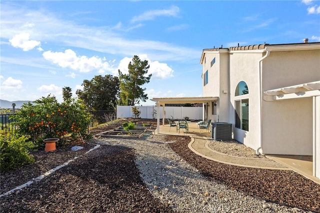
[[[0,133],[0,171],[9,171],[19,166],[34,162],[33,155],[29,153],[33,149],[32,142],[27,141],[30,136],[18,136],[7,132],[6,136]]]

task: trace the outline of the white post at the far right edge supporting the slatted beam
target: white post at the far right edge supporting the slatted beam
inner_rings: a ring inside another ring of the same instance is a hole
[[[320,96],[313,96],[313,176],[320,178]]]

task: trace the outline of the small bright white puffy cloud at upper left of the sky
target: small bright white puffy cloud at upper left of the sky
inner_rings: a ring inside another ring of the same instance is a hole
[[[40,41],[29,40],[29,37],[30,37],[29,33],[21,32],[19,34],[14,35],[11,39],[9,39],[9,42],[13,47],[22,48],[23,51],[28,51],[41,44]]]

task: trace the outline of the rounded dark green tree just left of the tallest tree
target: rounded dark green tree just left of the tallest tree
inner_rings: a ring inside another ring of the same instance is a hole
[[[110,74],[95,75],[91,80],[83,80],[83,90],[76,94],[89,110],[109,110],[116,103],[119,94],[119,79]]]

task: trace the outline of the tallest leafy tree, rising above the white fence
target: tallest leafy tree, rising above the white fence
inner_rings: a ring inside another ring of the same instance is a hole
[[[145,101],[148,98],[144,93],[145,88],[140,86],[150,81],[151,74],[146,75],[149,67],[147,60],[141,61],[137,55],[134,55],[128,64],[128,74],[118,70],[120,98],[124,105],[138,104],[140,100]]]

